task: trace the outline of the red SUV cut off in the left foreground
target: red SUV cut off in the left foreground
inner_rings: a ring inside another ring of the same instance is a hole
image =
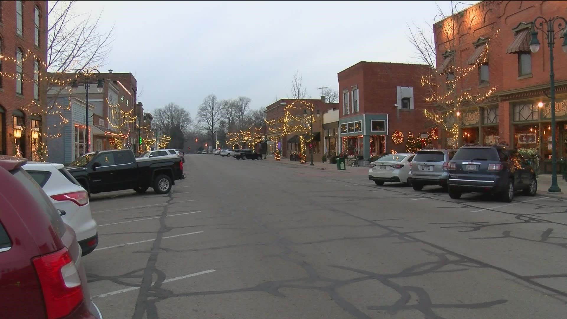
[[[75,232],[22,169],[26,162],[0,156],[1,317],[100,319]]]

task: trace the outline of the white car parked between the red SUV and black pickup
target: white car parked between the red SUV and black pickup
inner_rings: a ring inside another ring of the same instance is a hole
[[[87,191],[63,164],[28,162],[22,168],[43,188],[55,208],[66,212],[62,219],[75,231],[83,256],[91,253],[99,244],[99,234]]]

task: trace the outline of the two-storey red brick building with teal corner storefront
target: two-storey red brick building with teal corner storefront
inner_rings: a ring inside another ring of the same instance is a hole
[[[339,152],[368,159],[405,152],[408,133],[428,133],[423,109],[427,65],[361,61],[337,74]],[[403,135],[404,140],[392,136]]]

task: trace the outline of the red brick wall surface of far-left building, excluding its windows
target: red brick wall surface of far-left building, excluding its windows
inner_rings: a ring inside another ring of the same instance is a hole
[[[40,10],[40,44],[36,47],[34,43],[34,9]],[[44,96],[40,91],[40,100],[33,97],[33,76],[34,58],[46,61],[46,42],[47,42],[47,1],[24,1],[22,9],[23,35],[16,34],[16,1],[2,1],[2,11],[0,13],[0,40],[2,41],[2,53],[5,56],[2,60],[2,72],[0,75],[2,86],[0,87],[0,115],[2,120],[0,139],[0,154],[14,155],[14,125],[12,112],[22,110],[24,112],[24,132],[22,143],[25,149],[24,157],[31,156],[31,118],[30,112],[40,111],[40,106],[44,103]],[[14,62],[16,49],[21,48],[24,53],[23,61],[23,94],[16,94],[16,64]],[[28,53],[29,51],[29,53]],[[26,57],[26,53],[28,53]],[[40,63],[40,72],[45,74],[45,68]],[[1,112],[1,111],[0,111]]]

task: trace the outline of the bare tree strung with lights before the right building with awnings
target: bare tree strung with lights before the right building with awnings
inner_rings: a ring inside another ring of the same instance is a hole
[[[477,79],[476,74],[478,77],[488,76],[490,41],[498,36],[500,30],[478,37],[473,43],[471,55],[463,56],[467,60],[458,60],[461,58],[457,56],[457,52],[460,52],[458,39],[462,41],[463,36],[472,34],[476,19],[480,19],[471,12],[468,14],[471,16],[464,16],[452,3],[450,15],[439,10],[438,22],[433,25],[433,30],[424,31],[414,24],[408,35],[416,49],[418,60],[430,66],[429,72],[422,75],[421,85],[428,88],[425,100],[433,108],[425,109],[424,116],[431,123],[431,128],[443,129],[447,140],[452,140],[453,144],[459,140],[462,110],[488,102],[496,91],[496,86],[489,86],[488,80],[479,79],[480,85],[472,82]],[[433,41],[434,37],[437,37],[437,42]],[[439,51],[442,52],[442,61],[436,60]],[[466,66],[462,66],[464,64]],[[478,87],[478,90],[468,89],[473,86],[475,89]],[[480,110],[477,108],[477,111]]]

